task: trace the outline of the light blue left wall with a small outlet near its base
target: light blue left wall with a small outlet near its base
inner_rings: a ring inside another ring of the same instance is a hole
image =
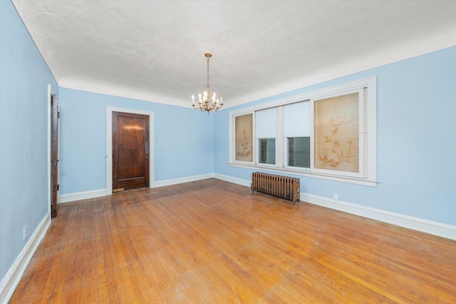
[[[0,68],[1,281],[48,213],[48,84],[58,92],[11,1],[0,1]]]

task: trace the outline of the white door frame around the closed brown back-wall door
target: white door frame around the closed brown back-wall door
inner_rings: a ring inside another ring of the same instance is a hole
[[[106,106],[106,195],[113,194],[113,112],[132,113],[149,116],[149,188],[155,186],[154,112],[135,108]]]

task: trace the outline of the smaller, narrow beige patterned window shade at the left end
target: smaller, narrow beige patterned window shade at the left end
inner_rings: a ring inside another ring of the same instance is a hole
[[[253,114],[234,118],[235,160],[253,161]]]

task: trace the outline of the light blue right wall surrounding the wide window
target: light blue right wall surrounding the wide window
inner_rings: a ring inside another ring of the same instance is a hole
[[[229,166],[229,111],[377,76],[378,186],[301,178],[301,192],[456,225],[456,47],[219,111],[215,173],[250,180]]]

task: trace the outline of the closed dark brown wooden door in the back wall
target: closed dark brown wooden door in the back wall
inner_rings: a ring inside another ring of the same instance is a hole
[[[149,186],[149,116],[113,112],[113,192]]]

